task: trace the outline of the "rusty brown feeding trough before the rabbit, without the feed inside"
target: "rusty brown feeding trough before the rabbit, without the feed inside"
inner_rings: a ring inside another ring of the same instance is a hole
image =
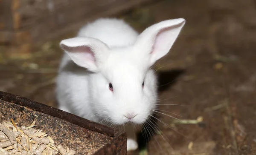
[[[126,155],[126,133],[89,121],[18,95],[0,91],[0,122],[13,119],[17,126],[36,121],[37,129],[51,136],[55,145],[76,155]],[[61,155],[61,154],[60,154]]]

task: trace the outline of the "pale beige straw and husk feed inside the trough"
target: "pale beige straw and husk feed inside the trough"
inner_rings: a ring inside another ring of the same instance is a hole
[[[41,129],[35,129],[35,121],[30,126],[17,126],[10,122],[0,123],[0,155],[75,155],[76,152],[60,144],[55,146],[52,138]]]

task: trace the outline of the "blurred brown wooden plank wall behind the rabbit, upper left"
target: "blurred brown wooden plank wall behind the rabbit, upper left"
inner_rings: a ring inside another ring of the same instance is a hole
[[[88,21],[150,1],[156,0],[0,0],[0,43],[38,47]]]

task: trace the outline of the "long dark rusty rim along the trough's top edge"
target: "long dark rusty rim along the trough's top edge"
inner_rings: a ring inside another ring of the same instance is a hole
[[[86,129],[89,129],[89,130],[92,130],[95,132],[99,132],[99,133],[102,133],[102,134],[105,134],[105,135],[108,135],[111,137],[114,137],[119,134],[119,132],[116,129],[110,128],[108,126],[105,126],[105,125],[102,125],[102,124],[99,124],[99,123],[96,123],[93,121],[89,121],[85,118],[81,118],[79,116],[73,115],[68,112],[64,112],[60,109],[56,109],[54,107],[47,106],[42,103],[38,103],[33,100],[29,100],[28,98],[24,98],[19,95],[14,95],[14,94],[11,94],[8,92],[0,91],[0,99],[5,100],[7,102],[19,104],[21,106],[26,106],[29,109],[32,109],[32,110],[35,110],[38,112],[42,112],[44,114],[51,115],[56,118],[60,118],[64,121],[68,121],[70,123],[76,124],[83,128],[86,128]]]

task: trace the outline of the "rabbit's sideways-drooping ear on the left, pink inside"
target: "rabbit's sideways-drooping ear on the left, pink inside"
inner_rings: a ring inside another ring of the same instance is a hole
[[[77,65],[96,72],[109,54],[108,46],[90,37],[74,37],[62,40],[61,48]]]

